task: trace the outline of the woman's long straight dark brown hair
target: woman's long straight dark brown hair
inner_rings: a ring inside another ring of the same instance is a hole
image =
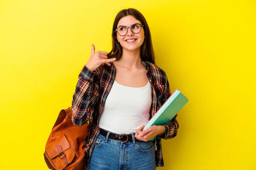
[[[116,18],[114,20],[113,24],[113,30],[112,30],[112,50],[108,53],[108,58],[116,58],[119,59],[122,56],[122,46],[117,41],[116,38],[116,28],[119,20],[122,17],[125,17],[127,15],[134,16],[137,20],[141,22],[141,24],[144,26],[144,34],[145,39],[143,44],[140,47],[140,57],[148,62],[151,62],[154,64],[154,50],[152,46],[151,41],[151,35],[148,28],[148,23],[146,22],[143,14],[140,13],[140,11],[134,9],[134,8],[128,8],[123,9],[122,11],[119,11],[119,13],[116,15]]]

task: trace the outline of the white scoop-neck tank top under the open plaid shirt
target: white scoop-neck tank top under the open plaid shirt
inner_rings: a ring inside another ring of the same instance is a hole
[[[99,118],[99,127],[113,133],[135,133],[149,121],[151,84],[140,88],[113,82],[105,107]]]

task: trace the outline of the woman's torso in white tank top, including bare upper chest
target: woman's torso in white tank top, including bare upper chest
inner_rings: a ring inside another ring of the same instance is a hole
[[[114,133],[133,133],[145,125],[150,116],[151,85],[146,70],[115,65],[115,82],[105,102],[99,127]]]

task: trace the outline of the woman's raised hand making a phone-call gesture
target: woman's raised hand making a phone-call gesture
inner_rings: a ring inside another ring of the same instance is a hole
[[[109,62],[112,62],[116,60],[116,58],[108,59],[108,52],[106,51],[96,51],[95,47],[92,44],[92,51],[89,60],[85,64],[87,68],[89,68],[91,71],[95,71],[96,68],[99,67],[102,63],[106,63],[107,65],[110,65]]]

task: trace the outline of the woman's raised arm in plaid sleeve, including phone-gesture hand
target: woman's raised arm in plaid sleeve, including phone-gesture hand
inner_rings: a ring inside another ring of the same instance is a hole
[[[93,119],[94,106],[99,99],[99,74],[100,65],[116,60],[108,59],[108,52],[96,51],[92,44],[91,55],[84,68],[79,74],[76,85],[76,92],[72,100],[72,122],[74,125],[84,125],[87,121]]]

